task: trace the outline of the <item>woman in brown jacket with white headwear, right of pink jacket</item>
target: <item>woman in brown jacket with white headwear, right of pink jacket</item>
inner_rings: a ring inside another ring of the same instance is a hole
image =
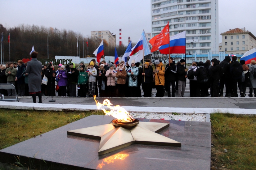
[[[118,97],[124,97],[124,93],[125,93],[125,82],[126,82],[126,70],[124,68],[124,64],[120,63],[119,64],[119,68],[117,70],[116,73],[116,77],[117,77],[117,89],[118,89]]]

